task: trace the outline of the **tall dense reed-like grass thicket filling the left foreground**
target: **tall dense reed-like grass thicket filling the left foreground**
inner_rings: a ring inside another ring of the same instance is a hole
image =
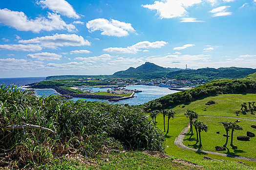
[[[10,125],[43,130],[4,130]],[[33,92],[0,87],[1,166],[34,166],[65,154],[94,157],[122,150],[164,151],[164,136],[139,108],[106,102],[38,98]],[[10,168],[10,167],[9,167]]]

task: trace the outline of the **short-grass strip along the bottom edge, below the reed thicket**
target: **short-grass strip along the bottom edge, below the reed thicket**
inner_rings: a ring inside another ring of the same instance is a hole
[[[193,156],[190,154],[190,156]],[[39,167],[39,170],[195,170],[172,161],[173,158],[155,158],[142,152],[114,153],[83,163],[81,160],[56,160]],[[199,161],[198,161],[199,162]],[[202,170],[255,170],[235,161],[201,161]],[[196,170],[198,170],[196,169]]]

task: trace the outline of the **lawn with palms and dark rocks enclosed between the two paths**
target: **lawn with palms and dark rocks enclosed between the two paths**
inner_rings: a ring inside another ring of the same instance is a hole
[[[254,128],[251,127],[252,124],[256,124],[256,121],[240,120],[241,122],[237,123],[243,127],[243,130],[235,130],[234,132],[233,144],[236,145],[238,149],[232,149],[232,147],[230,146],[231,137],[229,137],[227,145],[228,150],[215,151],[215,146],[223,146],[226,142],[226,137],[223,136],[223,134],[226,134],[226,131],[220,122],[234,122],[235,119],[199,117],[199,120],[202,120],[205,124],[209,126],[207,133],[201,133],[203,145],[201,149],[218,153],[256,158],[256,137],[251,137],[250,141],[239,141],[236,139],[236,136],[246,136],[247,131],[256,133],[256,131],[254,131]],[[216,134],[217,131],[219,131],[220,133]],[[195,132],[195,130],[193,132]],[[231,136],[231,131],[229,131],[229,135]],[[194,134],[192,137],[190,134],[186,135],[183,143],[190,148],[199,148],[199,143],[195,144],[196,134]]]

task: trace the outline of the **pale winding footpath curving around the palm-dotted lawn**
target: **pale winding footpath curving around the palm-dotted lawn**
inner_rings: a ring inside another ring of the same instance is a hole
[[[231,119],[237,119],[237,118],[232,118],[232,117],[222,117],[222,116],[201,116],[201,117],[217,117],[217,118],[231,118]],[[239,118],[239,119],[243,119],[243,118]],[[253,119],[243,119],[243,120],[252,120],[252,121],[256,121]],[[248,160],[248,161],[254,161],[256,162],[256,158],[252,158],[252,157],[243,157],[243,156],[234,156],[234,155],[230,155],[230,154],[225,154],[225,153],[215,153],[212,151],[204,151],[204,150],[200,150],[200,149],[193,149],[193,148],[189,148],[186,145],[183,144],[183,139],[185,137],[185,135],[188,133],[190,129],[190,123],[188,123],[188,126],[185,127],[181,133],[179,134],[179,136],[177,136],[175,138],[174,144],[182,149],[186,149],[186,150],[190,150],[190,151],[195,151],[195,152],[202,152],[202,153],[210,153],[210,154],[216,154],[216,155],[220,155],[220,156],[226,156],[226,157],[232,157],[235,159],[242,159],[242,160]]]

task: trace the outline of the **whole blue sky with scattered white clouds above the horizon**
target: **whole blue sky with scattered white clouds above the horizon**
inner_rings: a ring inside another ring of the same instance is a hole
[[[5,0],[0,77],[256,68],[256,0]]]

